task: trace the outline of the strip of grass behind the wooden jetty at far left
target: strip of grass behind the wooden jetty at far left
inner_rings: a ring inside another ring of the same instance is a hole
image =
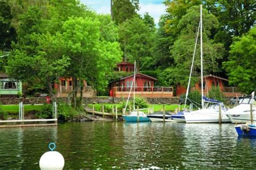
[[[43,105],[24,105],[25,114],[30,111],[41,111]],[[2,105],[3,111],[9,114],[18,114],[19,105]]]

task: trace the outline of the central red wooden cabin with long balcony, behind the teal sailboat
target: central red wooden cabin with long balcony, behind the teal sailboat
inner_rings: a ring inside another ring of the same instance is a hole
[[[140,97],[173,97],[173,87],[154,87],[156,78],[147,76],[146,74],[136,73],[135,94]],[[110,83],[110,96],[128,97],[133,95],[134,75],[120,78]],[[132,88],[132,89],[131,89]],[[131,96],[132,97],[132,96]]]

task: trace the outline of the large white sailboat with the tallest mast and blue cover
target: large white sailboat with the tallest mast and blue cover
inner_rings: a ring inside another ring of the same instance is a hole
[[[221,109],[222,122],[229,122],[230,119],[226,116],[226,108],[224,104],[217,100],[207,99],[204,97],[203,91],[203,17],[202,5],[200,5],[200,60],[201,60],[201,110],[184,112],[186,123],[218,123],[219,122],[219,109]],[[207,103],[205,107],[205,103]],[[221,107],[221,108],[219,108]]]

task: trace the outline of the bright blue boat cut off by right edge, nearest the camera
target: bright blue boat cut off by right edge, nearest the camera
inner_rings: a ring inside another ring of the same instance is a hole
[[[256,136],[256,125],[254,124],[242,124],[235,126],[235,130],[237,130],[237,134],[239,136],[250,137]]]

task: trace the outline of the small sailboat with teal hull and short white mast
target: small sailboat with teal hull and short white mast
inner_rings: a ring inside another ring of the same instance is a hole
[[[134,77],[132,80],[132,85],[130,89],[129,96],[127,98],[126,104],[125,104],[125,110],[127,108],[127,104],[130,98],[131,91],[133,89],[133,111],[130,112],[130,114],[126,115],[123,113],[123,118],[126,122],[142,122],[142,121],[150,121],[149,118],[147,118],[147,115],[142,111],[136,111],[135,110],[135,87],[136,87],[136,61],[134,61]],[[134,88],[132,88],[134,87]]]

